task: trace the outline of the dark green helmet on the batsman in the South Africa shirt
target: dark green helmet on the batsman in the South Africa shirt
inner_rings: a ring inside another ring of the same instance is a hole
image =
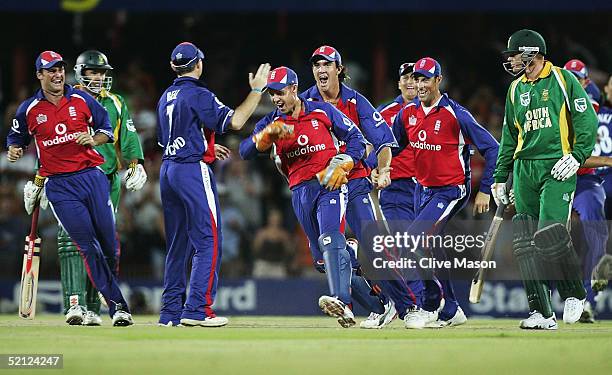
[[[515,63],[513,67],[509,58],[519,53],[521,54],[522,65],[516,65]],[[536,31],[529,29],[519,30],[510,35],[506,50],[502,54],[506,60],[502,63],[504,69],[516,76],[522,73],[538,54],[546,55],[546,42],[542,35]]]

